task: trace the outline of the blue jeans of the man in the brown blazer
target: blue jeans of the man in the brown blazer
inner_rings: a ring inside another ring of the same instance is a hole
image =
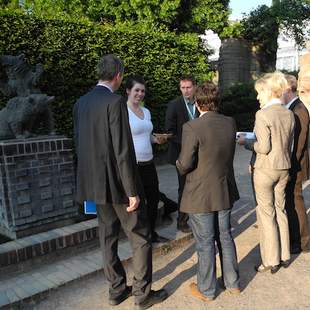
[[[224,284],[239,288],[239,271],[235,242],[231,235],[230,210],[218,211],[218,224],[222,246]],[[216,212],[190,214],[198,254],[197,285],[201,293],[213,298],[216,292],[215,225]]]

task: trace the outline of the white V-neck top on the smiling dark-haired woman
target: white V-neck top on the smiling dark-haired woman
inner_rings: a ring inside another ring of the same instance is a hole
[[[137,161],[149,161],[153,159],[153,149],[151,144],[151,133],[153,124],[151,113],[148,109],[141,107],[144,118],[139,118],[128,108],[129,125],[132,134]]]

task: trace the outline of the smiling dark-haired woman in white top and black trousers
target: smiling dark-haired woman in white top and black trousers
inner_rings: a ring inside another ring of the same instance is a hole
[[[129,77],[126,82],[129,125],[136,153],[138,170],[143,184],[150,221],[152,242],[164,242],[155,231],[159,202],[158,176],[153,162],[152,143],[162,144],[164,139],[152,135],[153,124],[150,111],[141,106],[145,96],[145,81],[140,76]]]

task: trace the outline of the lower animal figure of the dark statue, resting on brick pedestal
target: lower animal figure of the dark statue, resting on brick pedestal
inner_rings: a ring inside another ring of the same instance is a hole
[[[35,135],[36,125],[42,121],[48,133],[54,134],[53,118],[49,109],[49,103],[53,100],[53,96],[45,94],[10,99],[0,111],[0,140],[32,137]]]

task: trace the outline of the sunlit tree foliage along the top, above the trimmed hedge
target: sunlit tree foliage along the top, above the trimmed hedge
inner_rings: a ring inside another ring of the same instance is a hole
[[[1,0],[18,8],[18,0]],[[24,0],[39,16],[67,16],[93,22],[144,24],[176,32],[221,32],[227,25],[229,0]]]

